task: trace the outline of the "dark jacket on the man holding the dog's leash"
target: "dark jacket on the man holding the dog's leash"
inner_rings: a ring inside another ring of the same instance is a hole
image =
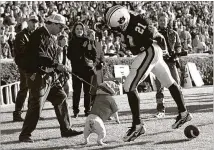
[[[27,72],[48,73],[59,63],[58,45],[45,26],[32,33],[27,49],[25,55]]]

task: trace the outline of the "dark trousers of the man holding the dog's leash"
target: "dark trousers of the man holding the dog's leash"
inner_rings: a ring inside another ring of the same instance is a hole
[[[20,137],[31,136],[31,133],[36,128],[46,99],[54,106],[61,133],[68,131],[71,128],[71,120],[66,101],[67,97],[57,78],[57,74],[41,75],[34,73],[28,77],[27,81],[29,104]]]

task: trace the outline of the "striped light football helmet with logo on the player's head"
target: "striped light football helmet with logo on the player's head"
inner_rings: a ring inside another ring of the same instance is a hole
[[[107,10],[105,19],[109,27],[125,31],[129,24],[130,14],[126,7],[115,5]]]

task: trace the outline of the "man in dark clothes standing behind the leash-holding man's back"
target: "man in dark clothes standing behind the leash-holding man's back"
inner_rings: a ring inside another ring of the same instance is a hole
[[[36,15],[32,15],[29,17],[27,22],[27,28],[23,29],[19,33],[16,34],[14,47],[15,47],[15,63],[18,66],[20,73],[20,90],[16,97],[15,102],[15,111],[13,112],[13,121],[24,121],[21,117],[22,107],[24,105],[25,99],[28,93],[27,86],[27,74],[21,67],[21,61],[23,59],[23,55],[26,52],[27,43],[29,42],[29,37],[33,33],[34,30],[38,27],[38,17]]]

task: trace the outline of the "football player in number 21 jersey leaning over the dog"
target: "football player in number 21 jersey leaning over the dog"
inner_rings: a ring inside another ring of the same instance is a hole
[[[169,89],[177,104],[178,116],[172,128],[179,128],[190,121],[192,116],[187,111],[182,92],[163,60],[163,52],[167,52],[164,37],[158,33],[146,17],[134,14],[120,5],[109,8],[105,13],[105,20],[112,30],[119,31],[124,35],[127,48],[130,49],[133,55],[137,55],[131,65],[130,74],[124,83],[133,122],[123,140],[125,142],[133,141],[145,133],[144,124],[140,119],[140,98],[137,86],[145,80],[150,72],[154,73],[161,84]]]

